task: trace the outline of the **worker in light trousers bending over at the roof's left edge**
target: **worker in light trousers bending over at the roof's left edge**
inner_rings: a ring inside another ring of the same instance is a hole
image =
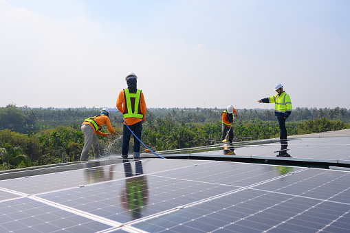
[[[100,129],[102,125],[106,124],[109,132],[113,133],[113,135],[118,135],[116,131],[111,126],[111,121],[109,120],[109,109],[104,108],[101,110],[100,115],[96,115],[92,118],[87,118],[81,125],[81,131],[85,135],[85,144],[83,147],[83,151],[81,152],[80,161],[87,160],[87,153],[91,148],[94,150],[95,157],[100,157],[100,145],[98,144],[98,137],[96,134],[107,137],[109,139],[112,138],[109,133],[102,133]]]

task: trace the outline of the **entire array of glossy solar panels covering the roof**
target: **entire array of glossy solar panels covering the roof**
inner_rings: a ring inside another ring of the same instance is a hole
[[[276,148],[247,144],[236,152],[346,167],[350,135],[298,137],[289,141],[292,158],[276,157]],[[223,151],[172,156],[2,172],[0,232],[349,232],[347,168],[198,159],[220,160]]]

